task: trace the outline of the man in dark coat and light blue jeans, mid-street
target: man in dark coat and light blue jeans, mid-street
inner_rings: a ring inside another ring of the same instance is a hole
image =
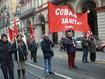
[[[41,42],[41,49],[43,51],[43,55],[44,55],[44,62],[45,62],[45,66],[44,66],[44,71],[45,74],[49,73],[49,74],[54,74],[52,72],[52,66],[51,66],[51,59],[54,55],[52,47],[53,47],[53,43],[49,40],[47,35],[44,35],[43,37],[43,41]]]

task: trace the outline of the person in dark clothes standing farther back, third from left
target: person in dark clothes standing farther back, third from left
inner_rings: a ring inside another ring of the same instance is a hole
[[[36,41],[31,37],[28,37],[27,45],[28,45],[28,50],[31,52],[31,59],[33,59],[34,63],[37,63],[36,55],[37,55],[38,45]]]

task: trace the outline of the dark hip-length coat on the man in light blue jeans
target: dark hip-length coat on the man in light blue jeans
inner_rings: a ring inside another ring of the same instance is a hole
[[[50,40],[43,40],[41,42],[41,49],[43,51],[44,58],[51,58],[54,55],[52,50],[53,43]]]

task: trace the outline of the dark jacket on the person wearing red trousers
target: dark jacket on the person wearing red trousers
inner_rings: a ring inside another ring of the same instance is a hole
[[[65,48],[68,54],[76,52],[75,40],[72,37],[66,37],[64,40]]]

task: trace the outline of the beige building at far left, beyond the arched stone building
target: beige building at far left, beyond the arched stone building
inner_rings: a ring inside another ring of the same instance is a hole
[[[14,19],[16,0],[0,0],[0,35],[8,34],[8,27]]]

